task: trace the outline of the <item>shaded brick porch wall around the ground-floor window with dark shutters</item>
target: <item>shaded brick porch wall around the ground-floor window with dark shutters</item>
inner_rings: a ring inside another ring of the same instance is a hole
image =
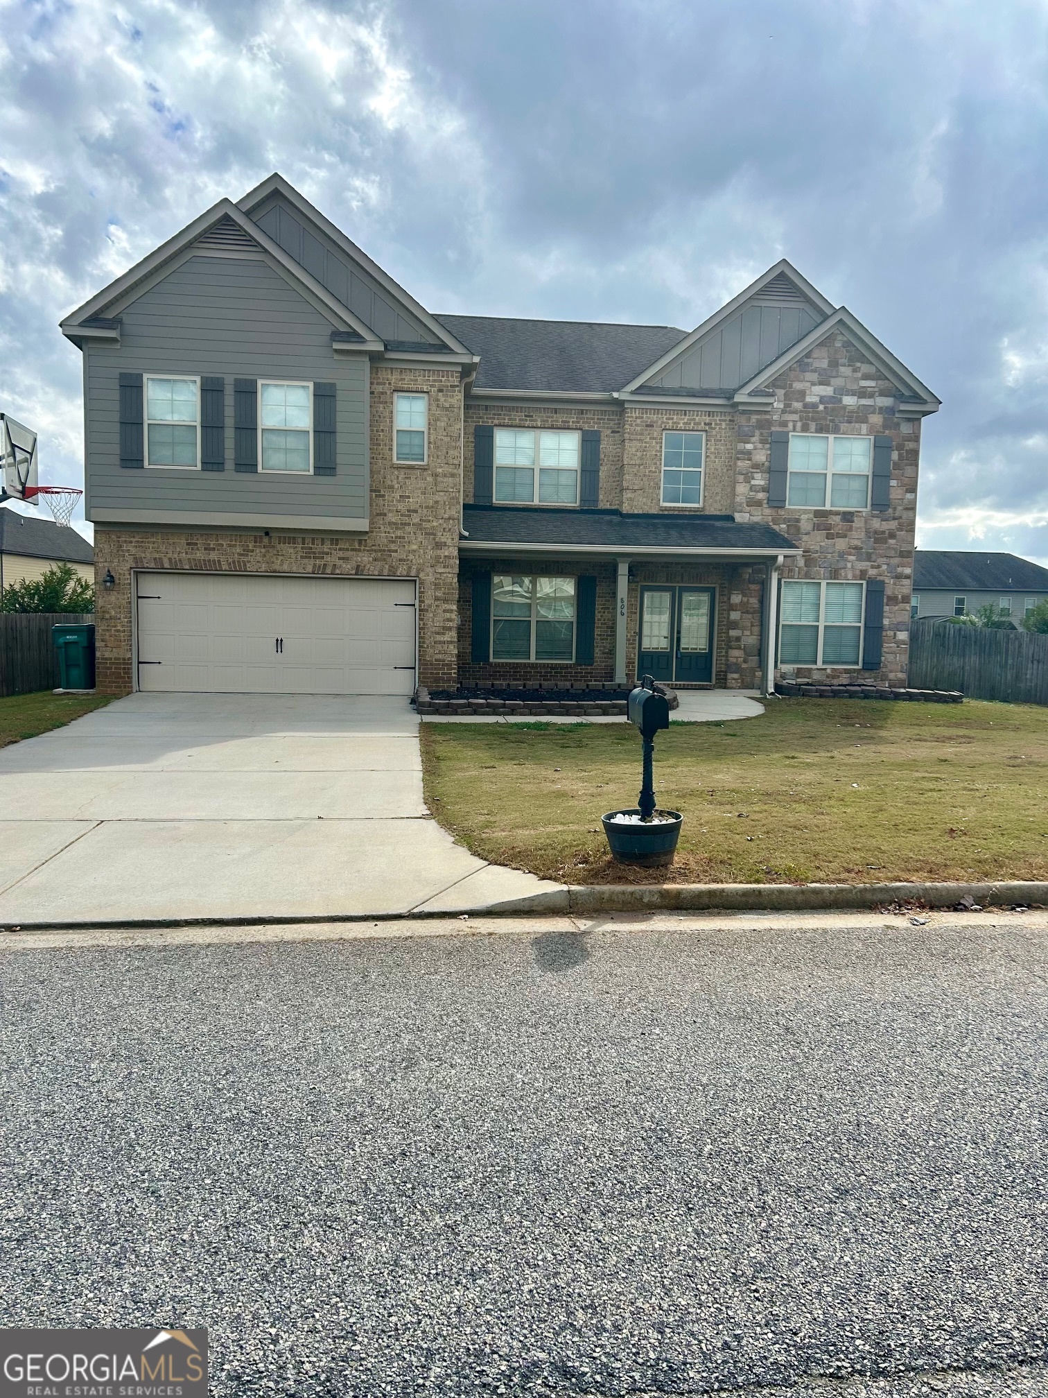
[[[479,569],[492,573],[537,573],[542,577],[597,577],[597,628],[592,665],[569,665],[552,661],[490,660],[475,664],[472,646],[472,577]],[[615,679],[615,597],[616,568],[605,561],[565,559],[535,562],[513,556],[495,559],[463,558],[458,582],[458,681],[464,688],[532,688],[569,689],[572,685],[612,684]]]

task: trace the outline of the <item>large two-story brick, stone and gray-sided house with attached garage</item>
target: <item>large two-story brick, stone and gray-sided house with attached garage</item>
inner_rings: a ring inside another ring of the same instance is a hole
[[[435,316],[272,175],[61,329],[109,692],[905,682],[939,400],[785,261],[690,333]]]

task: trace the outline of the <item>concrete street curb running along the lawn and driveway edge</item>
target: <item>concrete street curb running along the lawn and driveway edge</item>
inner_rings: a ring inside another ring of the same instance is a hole
[[[253,914],[246,917],[81,918],[66,921],[11,920],[0,934],[117,931],[163,927],[268,927],[310,923],[432,921],[447,917],[528,917],[605,913],[806,913],[871,911],[893,903],[950,909],[964,899],[977,907],[1048,907],[1048,884],[583,884],[544,889],[499,903],[465,903],[440,909],[415,907],[391,913]],[[974,909],[973,909],[974,910]],[[0,937],[0,949],[3,938]]]

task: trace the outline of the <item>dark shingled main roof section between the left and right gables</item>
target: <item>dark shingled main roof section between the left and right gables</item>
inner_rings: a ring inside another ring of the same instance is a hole
[[[675,326],[587,320],[444,315],[437,320],[481,356],[475,389],[532,393],[615,393],[685,336]]]

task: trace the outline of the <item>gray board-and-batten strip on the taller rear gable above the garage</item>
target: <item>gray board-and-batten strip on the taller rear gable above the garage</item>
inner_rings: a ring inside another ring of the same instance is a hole
[[[279,194],[271,194],[252,212],[252,219],[387,344],[443,348],[432,330],[405,306],[394,303],[365,267],[335,247],[320,228],[306,228]]]

